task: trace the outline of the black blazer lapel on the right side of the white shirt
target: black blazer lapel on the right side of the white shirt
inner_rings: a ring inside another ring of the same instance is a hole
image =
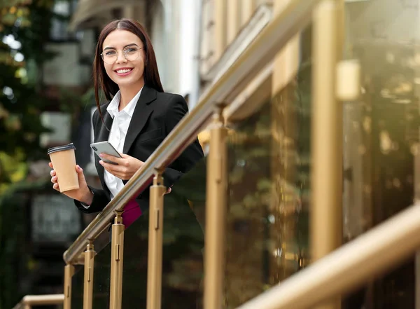
[[[146,125],[146,122],[153,111],[151,102],[153,102],[155,99],[156,90],[149,88],[147,85],[144,85],[143,90],[141,90],[139,101],[137,101],[136,108],[134,109],[127,135],[125,136],[123,153],[128,153],[134,142],[134,139],[136,139],[137,135],[139,135],[141,130],[143,130],[144,125]]]

